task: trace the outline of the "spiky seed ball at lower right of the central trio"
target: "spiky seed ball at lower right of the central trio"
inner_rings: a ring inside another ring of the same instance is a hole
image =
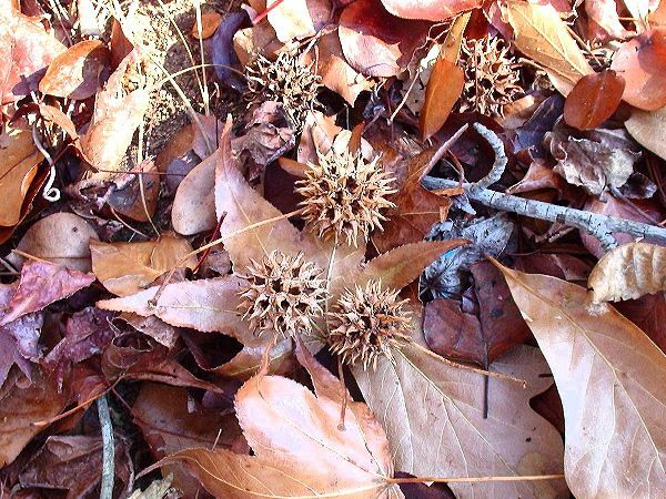
[[[406,299],[397,299],[395,289],[382,289],[380,281],[365,287],[345,289],[329,313],[329,346],[344,364],[363,364],[376,368],[383,355],[393,360],[392,348],[410,340],[410,313],[403,309]]]

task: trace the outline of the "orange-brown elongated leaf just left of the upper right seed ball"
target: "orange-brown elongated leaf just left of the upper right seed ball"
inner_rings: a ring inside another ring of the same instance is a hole
[[[438,59],[433,67],[425,90],[425,103],[418,121],[423,140],[437,133],[453,106],[457,102],[465,84],[465,73],[447,59]]]

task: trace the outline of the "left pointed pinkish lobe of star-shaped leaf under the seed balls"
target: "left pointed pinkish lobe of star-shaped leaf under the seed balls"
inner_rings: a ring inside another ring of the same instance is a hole
[[[97,306],[104,310],[132,312],[142,317],[154,315],[176,327],[191,327],[204,333],[224,333],[245,345],[258,339],[236,310],[243,279],[224,276],[213,279],[184,281],[168,284],[155,306],[149,302],[160,286],[153,286],[122,298],[102,299]]]

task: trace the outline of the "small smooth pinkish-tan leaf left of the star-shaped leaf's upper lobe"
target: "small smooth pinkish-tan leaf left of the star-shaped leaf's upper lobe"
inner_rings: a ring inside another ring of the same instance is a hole
[[[215,228],[215,154],[211,154],[194,166],[178,186],[171,223],[179,234],[193,235]]]

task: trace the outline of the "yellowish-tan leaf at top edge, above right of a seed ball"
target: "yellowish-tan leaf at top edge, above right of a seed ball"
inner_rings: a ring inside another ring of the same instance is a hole
[[[568,84],[593,73],[553,6],[508,0],[506,17],[515,33],[516,48]]]

